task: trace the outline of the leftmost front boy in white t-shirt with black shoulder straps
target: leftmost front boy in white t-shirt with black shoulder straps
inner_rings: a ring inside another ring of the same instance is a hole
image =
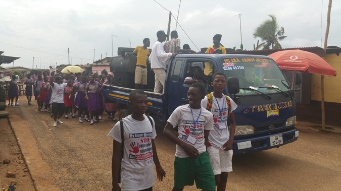
[[[122,119],[124,126],[123,159],[120,161],[121,128],[117,122],[108,134],[113,143],[113,191],[114,190],[153,190],[155,184],[154,165],[157,177],[162,181],[166,172],[160,165],[154,139],[156,137],[155,122],[144,115],[148,106],[147,94],[142,90],[134,90],[129,95],[131,115]],[[153,125],[152,125],[153,123]],[[118,184],[119,164],[121,167],[121,187]]]

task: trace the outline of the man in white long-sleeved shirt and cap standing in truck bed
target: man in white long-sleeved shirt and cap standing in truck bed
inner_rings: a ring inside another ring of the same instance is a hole
[[[165,79],[166,79],[166,61],[170,57],[176,56],[177,53],[165,53],[162,42],[166,40],[168,36],[165,31],[158,31],[156,33],[158,41],[153,45],[152,53],[149,56],[151,62],[151,68],[155,73],[155,93],[164,93],[165,91]]]

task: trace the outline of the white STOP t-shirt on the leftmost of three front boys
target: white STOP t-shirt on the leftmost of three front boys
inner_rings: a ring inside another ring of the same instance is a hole
[[[153,120],[153,118],[151,118]],[[124,126],[124,155],[121,167],[121,189],[142,190],[155,184],[152,139],[156,137],[153,126],[147,116],[143,121],[135,120],[131,115],[122,119]],[[121,127],[117,122],[109,132],[109,137],[121,143]]]

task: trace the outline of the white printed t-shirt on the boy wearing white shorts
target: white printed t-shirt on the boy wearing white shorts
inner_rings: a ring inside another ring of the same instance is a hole
[[[232,112],[233,110],[237,108],[237,105],[234,103],[234,101],[230,97],[228,98],[230,99],[230,102],[231,102],[231,112]],[[214,124],[213,124],[213,131],[210,131],[209,143],[218,149],[224,149],[222,148],[222,146],[230,139],[230,133],[228,131],[228,126],[227,126],[227,119],[228,119],[227,102],[226,102],[226,98],[224,95],[221,98],[216,98],[213,95],[212,101],[213,102],[212,102],[211,113],[213,114]],[[207,99],[207,96],[205,96],[205,98],[201,100],[201,106],[206,108],[207,102],[208,102],[208,99]],[[220,111],[219,111],[219,108],[220,108]]]

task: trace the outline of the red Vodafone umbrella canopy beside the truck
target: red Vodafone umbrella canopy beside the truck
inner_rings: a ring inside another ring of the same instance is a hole
[[[282,50],[268,55],[282,70],[336,76],[336,71],[317,54],[303,50]]]

